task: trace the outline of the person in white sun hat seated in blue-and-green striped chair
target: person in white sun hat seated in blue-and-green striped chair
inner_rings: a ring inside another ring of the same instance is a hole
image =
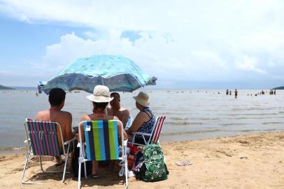
[[[94,87],[93,94],[86,97],[90,101],[92,101],[93,105],[93,113],[89,115],[85,115],[81,118],[80,121],[84,120],[118,120],[116,116],[109,116],[106,114],[106,106],[108,106],[108,102],[111,102],[113,97],[110,97],[110,92],[108,87],[104,85],[97,85]],[[125,131],[121,133],[121,127],[123,125],[121,123],[118,124],[118,134],[119,136],[122,136],[123,138],[127,139],[127,134]],[[85,141],[84,131],[83,127],[80,127],[81,133],[83,134],[82,140]],[[99,162],[92,161],[92,177],[97,178],[98,177],[98,169],[99,169]]]

